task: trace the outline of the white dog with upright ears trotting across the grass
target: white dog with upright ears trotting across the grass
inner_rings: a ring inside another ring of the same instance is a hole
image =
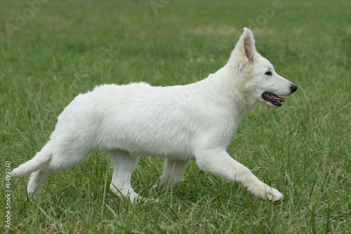
[[[206,79],[185,86],[145,83],[95,87],[79,94],[58,117],[50,141],[12,176],[27,176],[29,195],[39,195],[51,171],[84,162],[92,150],[105,150],[114,173],[110,189],[131,202],[142,199],[131,188],[140,155],[166,158],[158,186],[179,183],[187,163],[227,181],[237,181],[260,199],[281,201],[282,193],[261,182],[227,154],[237,124],[256,102],[278,108],[297,86],[274,71],[256,51],[244,28],[228,63]]]

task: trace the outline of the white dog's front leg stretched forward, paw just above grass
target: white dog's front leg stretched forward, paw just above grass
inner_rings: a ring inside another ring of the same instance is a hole
[[[237,181],[260,199],[283,200],[282,193],[260,181],[243,164],[235,161],[224,149],[201,150],[196,155],[197,166],[227,181]]]

